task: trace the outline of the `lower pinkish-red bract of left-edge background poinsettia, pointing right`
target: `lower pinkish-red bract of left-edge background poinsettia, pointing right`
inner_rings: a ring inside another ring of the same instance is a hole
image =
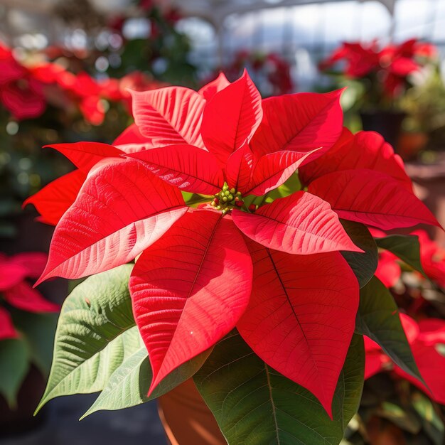
[[[4,291],[4,297],[11,306],[28,312],[58,312],[58,304],[45,300],[37,289],[33,289],[27,282],[16,284]]]

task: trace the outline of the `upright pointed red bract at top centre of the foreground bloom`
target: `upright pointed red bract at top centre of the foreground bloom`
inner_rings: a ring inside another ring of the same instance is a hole
[[[245,71],[206,105],[202,127],[205,146],[225,165],[230,154],[252,139],[261,119],[261,95]]]

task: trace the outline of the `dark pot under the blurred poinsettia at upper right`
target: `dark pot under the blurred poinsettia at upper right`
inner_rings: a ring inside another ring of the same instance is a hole
[[[403,119],[406,117],[405,113],[375,110],[360,112],[360,117],[364,130],[380,133],[385,141],[397,149],[397,139],[402,129]]]

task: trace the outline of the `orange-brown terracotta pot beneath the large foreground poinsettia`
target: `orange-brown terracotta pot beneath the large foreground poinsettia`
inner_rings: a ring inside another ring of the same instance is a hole
[[[158,403],[171,445],[227,445],[192,379],[159,397]]]

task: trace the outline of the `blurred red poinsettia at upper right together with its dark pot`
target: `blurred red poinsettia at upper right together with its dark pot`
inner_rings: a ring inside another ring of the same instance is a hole
[[[436,59],[430,43],[410,39],[400,45],[379,48],[377,42],[345,42],[319,64],[322,72],[334,77],[360,81],[363,96],[357,104],[363,129],[379,132],[397,147],[402,121],[406,116],[400,100],[410,87],[410,76]],[[333,70],[335,66],[340,70]]]

